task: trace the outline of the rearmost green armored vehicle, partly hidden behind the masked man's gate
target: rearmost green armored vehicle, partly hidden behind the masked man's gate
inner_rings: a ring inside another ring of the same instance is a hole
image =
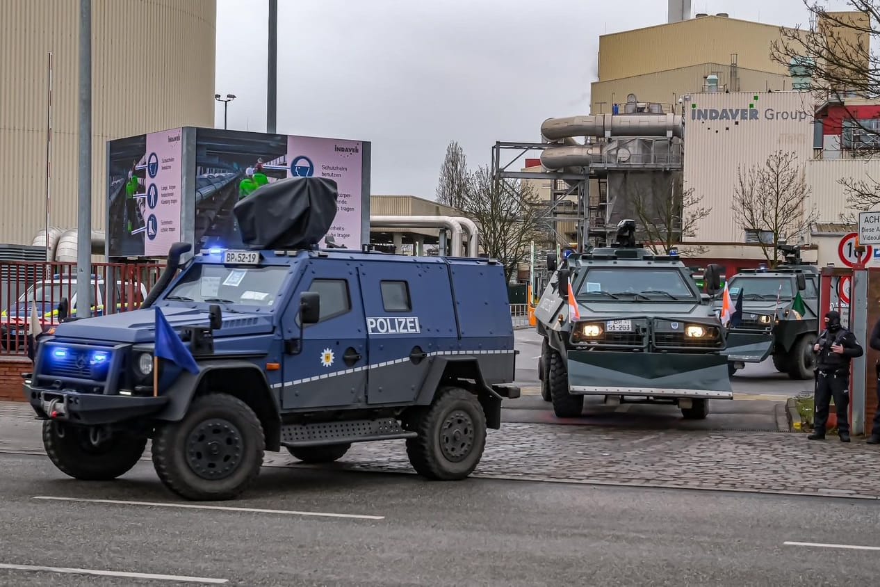
[[[800,247],[780,245],[784,261],[776,268],[742,271],[730,278],[734,304],[742,296],[727,334],[724,354],[733,375],[745,363],[773,357],[776,371],[792,379],[811,379],[816,366],[812,343],[818,333],[819,270],[801,260]],[[722,298],[716,297],[720,316]]]

